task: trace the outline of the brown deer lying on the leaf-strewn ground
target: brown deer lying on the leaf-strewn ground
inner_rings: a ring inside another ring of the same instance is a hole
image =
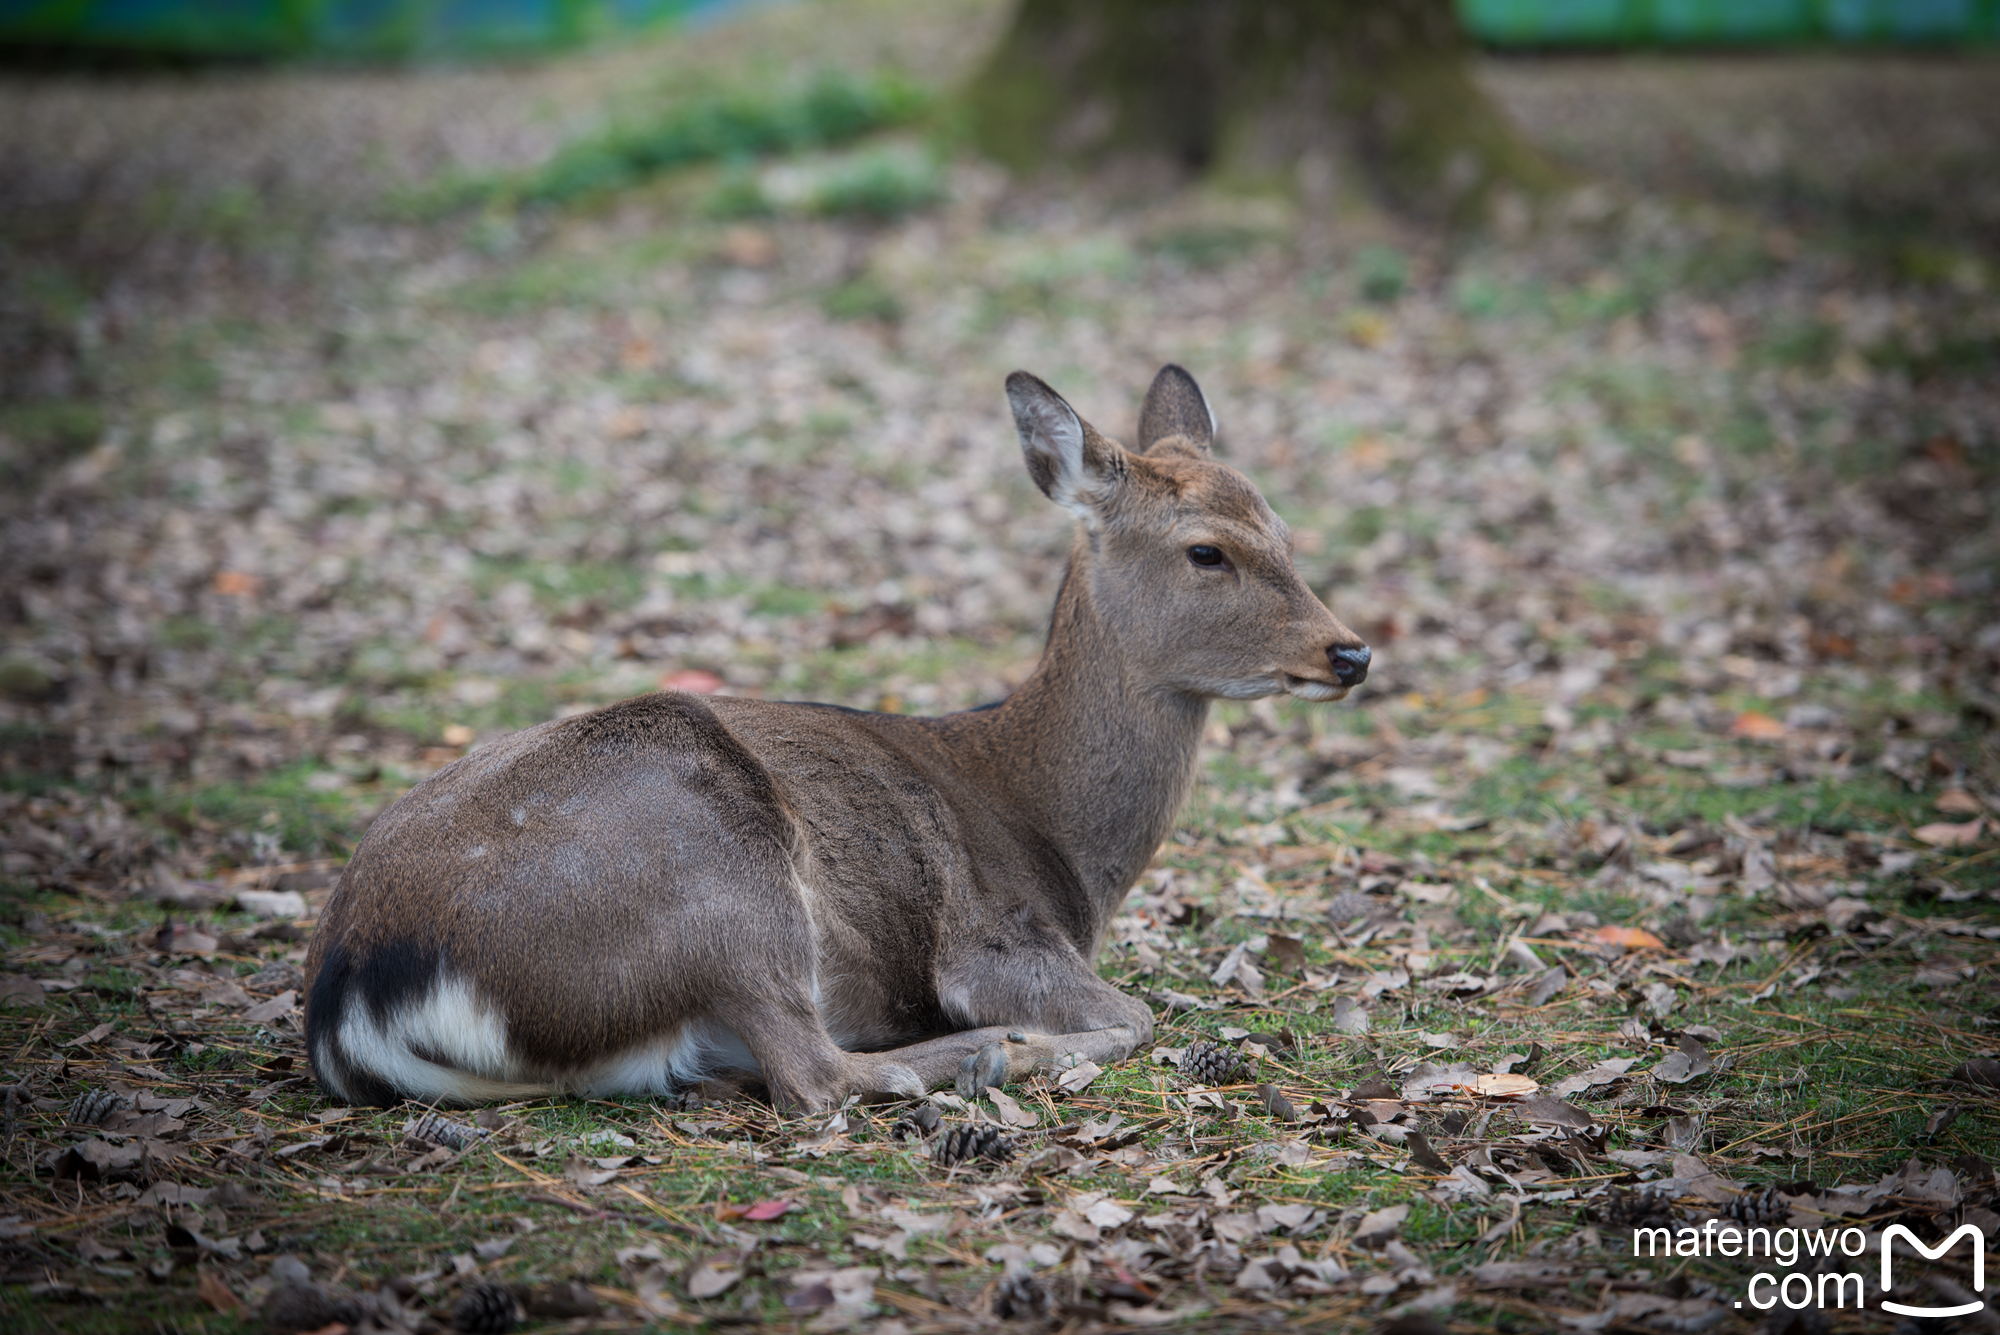
[[[312,937],[328,1095],[660,1095],[780,1107],[998,1085],[1152,1039],[1092,959],[1172,829],[1208,701],[1340,699],[1368,650],[1210,458],[1168,366],[1138,450],[1006,382],[1078,518],[1048,646],[946,717],[640,695],[452,761],[370,825]]]

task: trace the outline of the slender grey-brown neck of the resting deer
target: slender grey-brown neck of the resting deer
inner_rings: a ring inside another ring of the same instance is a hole
[[[1034,675],[996,709],[960,717],[976,719],[1016,807],[1076,869],[1102,931],[1174,827],[1208,701],[1138,679],[1078,552]]]

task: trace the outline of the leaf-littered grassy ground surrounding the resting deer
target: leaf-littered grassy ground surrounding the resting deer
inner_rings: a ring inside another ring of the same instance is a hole
[[[1010,182],[1002,18],[0,78],[10,1327],[1892,1329],[1884,1229],[2000,1243],[2000,66],[1488,60],[1574,186],[1444,236]],[[1100,961],[1154,1049],[936,1129],[320,1097],[374,811],[660,683],[1002,695],[1000,382],[1130,434],[1168,360],[1376,669],[1216,709]],[[1864,1255],[1634,1237],[1716,1217]]]

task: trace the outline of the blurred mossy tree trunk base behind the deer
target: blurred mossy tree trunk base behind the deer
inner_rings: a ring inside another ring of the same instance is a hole
[[[1452,0],[1020,0],[970,100],[1016,170],[1150,158],[1466,216],[1556,180],[1466,54]]]

